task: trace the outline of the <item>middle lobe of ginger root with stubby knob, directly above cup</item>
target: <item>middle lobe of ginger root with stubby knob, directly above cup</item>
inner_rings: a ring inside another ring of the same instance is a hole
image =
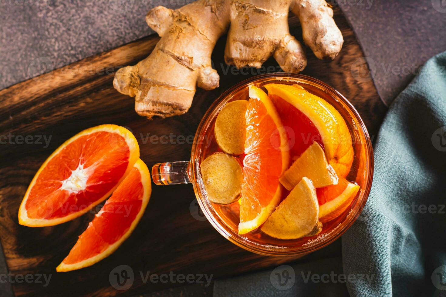
[[[306,66],[305,51],[289,34],[288,12],[294,0],[231,1],[225,62],[260,68],[272,54],[286,72]]]

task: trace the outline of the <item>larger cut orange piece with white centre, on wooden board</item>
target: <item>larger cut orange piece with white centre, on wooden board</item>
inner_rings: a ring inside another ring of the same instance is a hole
[[[101,125],[74,135],[46,159],[19,208],[30,227],[72,220],[109,197],[139,158],[133,134]]]

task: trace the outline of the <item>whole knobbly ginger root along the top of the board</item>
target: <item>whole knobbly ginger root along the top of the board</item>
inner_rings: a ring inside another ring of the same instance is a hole
[[[157,6],[149,11],[147,24],[161,40],[145,60],[119,69],[113,85],[135,97],[141,116],[186,113],[196,85],[204,90],[219,86],[211,53],[229,24],[227,64],[259,68],[273,55],[284,71],[298,73],[306,66],[306,54],[289,33],[290,10],[315,56],[336,57],[343,37],[325,0],[198,0],[176,10]]]

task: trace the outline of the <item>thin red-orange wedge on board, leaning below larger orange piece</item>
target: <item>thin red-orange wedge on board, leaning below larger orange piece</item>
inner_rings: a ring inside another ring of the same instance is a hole
[[[151,191],[149,169],[138,160],[56,270],[81,269],[116,251],[136,228]]]

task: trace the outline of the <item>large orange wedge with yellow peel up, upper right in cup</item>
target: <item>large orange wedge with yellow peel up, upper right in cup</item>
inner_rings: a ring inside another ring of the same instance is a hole
[[[345,120],[324,99],[311,94],[300,85],[267,84],[264,87],[272,98],[286,129],[294,135],[291,154],[298,157],[314,140],[324,147],[330,165],[341,177],[346,177],[353,163],[351,135]],[[283,100],[282,100],[283,99]]]

